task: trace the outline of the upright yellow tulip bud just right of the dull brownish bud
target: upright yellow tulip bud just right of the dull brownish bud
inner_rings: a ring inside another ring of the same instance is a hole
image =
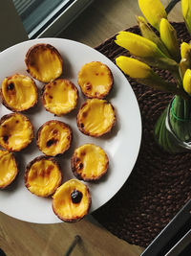
[[[180,61],[180,45],[177,39],[177,32],[167,19],[162,18],[159,24],[159,34],[162,42],[168,49],[171,57],[177,62]]]

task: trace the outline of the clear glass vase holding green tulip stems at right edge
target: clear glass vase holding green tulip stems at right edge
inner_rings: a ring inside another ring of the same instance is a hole
[[[164,151],[191,150],[191,97],[175,96],[160,115],[154,132]]]

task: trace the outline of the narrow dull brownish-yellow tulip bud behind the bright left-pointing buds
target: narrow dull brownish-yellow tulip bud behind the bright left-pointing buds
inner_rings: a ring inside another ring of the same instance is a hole
[[[169,53],[168,53],[165,45],[159,39],[159,36],[155,34],[155,32],[152,30],[152,28],[149,26],[149,24],[146,22],[146,20],[141,16],[138,16],[137,19],[138,19],[138,27],[140,29],[141,35],[144,36],[145,38],[153,41],[154,43],[156,43],[157,46],[159,47],[159,50],[163,54],[165,54],[166,56],[169,57]]]

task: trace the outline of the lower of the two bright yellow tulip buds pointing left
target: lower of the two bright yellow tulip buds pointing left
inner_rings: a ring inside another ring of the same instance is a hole
[[[136,79],[138,82],[149,85],[152,88],[172,92],[181,95],[180,88],[175,83],[162,80],[150,66],[139,61],[136,58],[119,56],[116,58],[117,66],[128,76]]]

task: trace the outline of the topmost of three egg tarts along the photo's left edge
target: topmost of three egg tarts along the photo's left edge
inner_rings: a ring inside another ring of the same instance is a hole
[[[30,77],[15,74],[2,82],[1,97],[12,111],[24,111],[37,104],[37,87]]]

